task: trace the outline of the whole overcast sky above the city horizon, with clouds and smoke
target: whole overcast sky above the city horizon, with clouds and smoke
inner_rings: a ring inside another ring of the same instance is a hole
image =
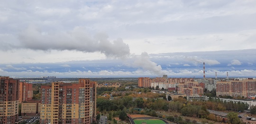
[[[256,77],[255,0],[2,0],[0,75]]]

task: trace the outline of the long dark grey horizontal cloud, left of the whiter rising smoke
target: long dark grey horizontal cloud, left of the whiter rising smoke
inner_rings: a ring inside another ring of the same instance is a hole
[[[77,50],[82,52],[101,52],[107,57],[121,58],[130,54],[128,44],[122,39],[108,41],[106,33],[91,37],[82,27],[59,33],[44,33],[30,25],[19,35],[21,46],[31,50]]]

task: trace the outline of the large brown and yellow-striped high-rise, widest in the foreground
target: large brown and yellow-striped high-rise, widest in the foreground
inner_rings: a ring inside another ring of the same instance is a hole
[[[96,82],[41,86],[40,124],[91,124],[96,120]]]

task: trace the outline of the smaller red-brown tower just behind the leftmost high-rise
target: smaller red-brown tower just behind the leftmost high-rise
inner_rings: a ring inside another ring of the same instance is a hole
[[[19,82],[19,103],[32,100],[33,89],[32,83],[26,83],[26,81]]]

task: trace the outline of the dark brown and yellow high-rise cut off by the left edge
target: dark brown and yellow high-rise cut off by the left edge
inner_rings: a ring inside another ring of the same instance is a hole
[[[19,80],[0,76],[0,124],[18,121]]]

